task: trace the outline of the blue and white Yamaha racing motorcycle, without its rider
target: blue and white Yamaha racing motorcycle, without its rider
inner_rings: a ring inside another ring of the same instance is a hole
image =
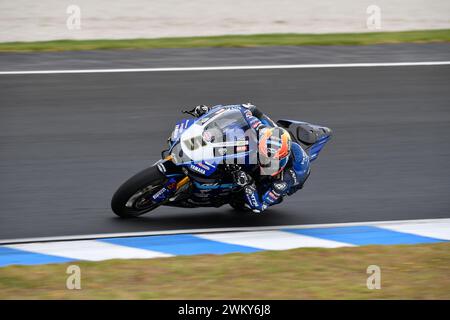
[[[185,111],[185,113],[190,113]],[[111,208],[122,218],[137,217],[159,206],[183,208],[231,205],[246,211],[243,188],[233,172],[258,170],[256,131],[244,105],[216,106],[196,119],[183,119],[168,138],[161,160],[137,173],[114,193]],[[192,115],[192,113],[191,113]],[[265,124],[285,128],[302,145],[310,161],[331,138],[327,127],[303,121],[279,120]],[[253,175],[264,190],[268,177]]]

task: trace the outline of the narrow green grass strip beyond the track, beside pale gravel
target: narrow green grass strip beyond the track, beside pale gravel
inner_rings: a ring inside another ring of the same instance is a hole
[[[258,34],[129,40],[6,42],[0,43],[0,52],[302,45],[368,45],[380,43],[429,42],[450,42],[450,29],[336,34]]]

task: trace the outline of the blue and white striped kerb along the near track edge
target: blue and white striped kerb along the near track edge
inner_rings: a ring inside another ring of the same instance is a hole
[[[214,232],[211,232],[214,231]],[[338,248],[395,245],[450,240],[450,219],[375,223],[211,229],[197,233],[144,235],[143,233],[84,236],[91,240],[10,243],[0,246],[0,266],[32,265],[107,259],[149,259],[177,255],[251,253],[303,247]],[[170,232],[169,232],[170,233]],[[67,237],[70,239],[71,237]],[[73,237],[72,237],[73,238]],[[92,240],[95,238],[95,240]],[[46,240],[46,241],[43,241]],[[2,241],[5,243],[7,241]]]

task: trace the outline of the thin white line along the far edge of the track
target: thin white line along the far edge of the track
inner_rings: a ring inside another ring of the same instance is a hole
[[[443,65],[450,65],[450,61],[286,64],[286,65],[266,65],[266,66],[222,66],[222,67],[219,66],[219,67],[186,67],[186,68],[28,70],[28,71],[0,71],[0,75],[171,72],[171,71],[227,71],[227,70],[316,69],[316,68],[363,68],[363,67],[407,67],[407,66],[443,66]]]

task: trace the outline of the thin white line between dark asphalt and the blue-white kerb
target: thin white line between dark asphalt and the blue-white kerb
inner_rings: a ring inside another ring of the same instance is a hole
[[[449,218],[443,219],[418,219],[418,220],[389,220],[389,221],[367,221],[367,222],[347,222],[347,223],[326,223],[326,224],[308,224],[308,225],[285,225],[285,226],[264,226],[264,227],[234,227],[234,228],[205,228],[205,229],[184,229],[167,231],[144,231],[144,232],[123,232],[123,233],[100,233],[57,237],[39,237],[39,238],[21,238],[21,239],[3,239],[0,244],[29,243],[29,242],[49,242],[49,241],[69,241],[69,240],[89,240],[104,238],[124,238],[124,237],[144,237],[156,235],[171,234],[198,234],[198,233],[218,233],[218,232],[241,232],[241,231],[267,231],[280,229],[311,229],[311,228],[333,228],[333,227],[351,227],[351,226],[389,226],[397,224],[415,224],[423,225],[429,223],[450,223]]]

